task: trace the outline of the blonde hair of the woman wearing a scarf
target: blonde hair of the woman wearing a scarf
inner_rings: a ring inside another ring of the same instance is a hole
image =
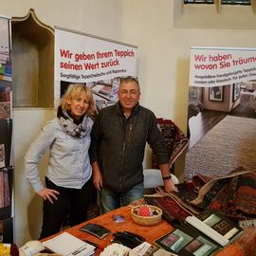
[[[89,102],[89,107],[86,113],[90,117],[94,117],[97,114],[97,110],[93,101],[92,91],[83,83],[71,83],[68,85],[67,90],[61,99],[61,107],[64,111],[68,112],[70,110],[70,104],[68,104],[67,101],[78,99],[82,92],[85,93],[87,101]]]

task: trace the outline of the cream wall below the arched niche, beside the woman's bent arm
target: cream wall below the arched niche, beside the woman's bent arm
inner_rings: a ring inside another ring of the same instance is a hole
[[[14,234],[18,245],[37,239],[41,230],[43,202],[24,176],[24,155],[46,120],[53,118],[53,112],[52,109],[35,108],[16,108],[13,112]],[[39,164],[43,181],[46,168],[47,155]]]

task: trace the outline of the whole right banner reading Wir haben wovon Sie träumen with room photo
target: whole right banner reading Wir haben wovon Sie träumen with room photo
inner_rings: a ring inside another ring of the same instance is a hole
[[[191,48],[187,179],[255,169],[255,62],[255,48]]]

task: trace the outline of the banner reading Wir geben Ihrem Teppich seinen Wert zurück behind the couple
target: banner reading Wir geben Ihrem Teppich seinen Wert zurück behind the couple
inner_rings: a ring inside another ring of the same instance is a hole
[[[137,46],[55,27],[54,106],[70,83],[90,87],[98,110],[118,101],[122,77],[137,77]]]

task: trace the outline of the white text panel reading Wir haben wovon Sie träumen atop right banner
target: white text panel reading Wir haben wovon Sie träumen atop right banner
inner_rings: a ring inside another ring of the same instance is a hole
[[[190,86],[215,87],[256,79],[256,48],[191,47]]]

